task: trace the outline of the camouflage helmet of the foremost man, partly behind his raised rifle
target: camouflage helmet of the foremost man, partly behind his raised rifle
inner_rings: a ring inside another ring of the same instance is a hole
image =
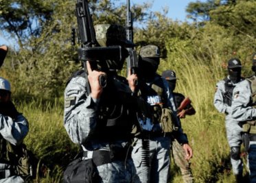
[[[134,47],[135,45],[126,39],[126,29],[121,25],[98,24],[94,26],[96,40],[102,47],[110,45],[121,45]]]

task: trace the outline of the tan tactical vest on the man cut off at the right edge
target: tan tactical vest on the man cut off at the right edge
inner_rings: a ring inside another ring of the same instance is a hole
[[[251,103],[249,103],[249,106],[256,107],[256,76],[253,75],[251,77],[246,78],[248,82],[250,82],[251,86]],[[249,134],[256,134],[256,126],[255,121],[247,121],[243,125],[243,131],[248,132]]]

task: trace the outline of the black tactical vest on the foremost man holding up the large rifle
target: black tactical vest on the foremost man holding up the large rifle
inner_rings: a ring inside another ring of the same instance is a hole
[[[75,72],[67,84],[73,77],[84,77],[84,75],[83,70]],[[132,97],[126,78],[108,74],[107,84],[98,106],[95,131],[90,134],[85,144],[90,143],[91,140],[101,142],[115,141],[115,139],[131,140],[132,127],[137,122],[138,107],[137,99]]]

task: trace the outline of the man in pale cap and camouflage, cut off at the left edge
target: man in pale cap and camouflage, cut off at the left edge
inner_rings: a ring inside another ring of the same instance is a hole
[[[19,145],[28,132],[28,122],[11,101],[10,82],[0,77],[0,182],[22,183],[14,165],[17,162],[7,155],[7,147]],[[15,163],[15,164],[14,164]]]

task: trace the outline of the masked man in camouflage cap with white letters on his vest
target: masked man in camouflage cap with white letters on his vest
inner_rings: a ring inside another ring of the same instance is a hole
[[[192,149],[183,134],[181,123],[176,117],[176,108],[172,91],[166,80],[156,73],[160,62],[160,50],[155,45],[141,47],[139,51],[139,95],[146,103],[141,105],[143,114],[139,123],[143,128],[135,138],[132,159],[141,182],[168,182],[170,178],[170,144],[172,118],[176,129],[176,138],[183,145],[187,159]],[[169,115],[170,114],[170,115]]]

